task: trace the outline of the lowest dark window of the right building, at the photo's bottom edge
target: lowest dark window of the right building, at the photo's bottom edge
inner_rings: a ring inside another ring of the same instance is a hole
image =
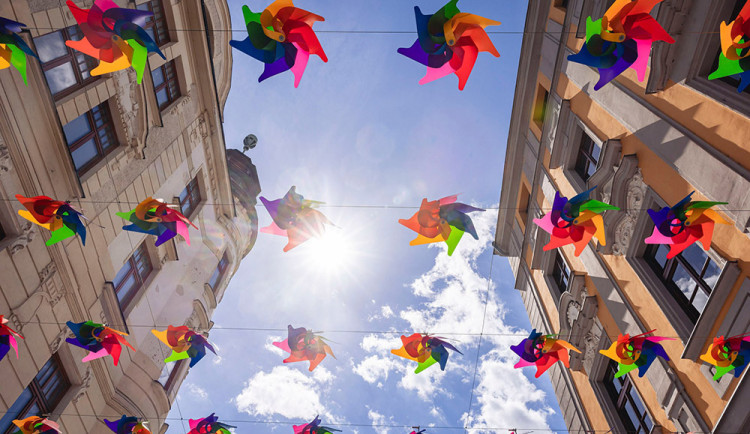
[[[651,432],[654,423],[648,415],[641,397],[638,396],[638,392],[633,387],[630,376],[625,375],[615,378],[617,363],[614,361],[610,361],[606,369],[602,384],[612,400],[626,432],[638,434]]]

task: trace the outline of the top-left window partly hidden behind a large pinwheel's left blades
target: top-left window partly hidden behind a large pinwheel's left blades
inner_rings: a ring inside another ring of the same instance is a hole
[[[98,61],[65,45],[66,40],[78,41],[82,38],[83,33],[78,26],[34,38],[44,78],[55,99],[70,95],[96,80],[90,71]]]

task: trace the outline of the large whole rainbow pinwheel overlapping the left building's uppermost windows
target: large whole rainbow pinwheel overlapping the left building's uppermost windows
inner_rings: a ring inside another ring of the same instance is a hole
[[[95,0],[91,9],[67,1],[83,32],[80,41],[65,41],[68,47],[99,60],[91,75],[102,75],[133,67],[138,83],[143,80],[148,53],[166,60],[156,42],[144,30],[152,12],[119,7],[112,0]]]

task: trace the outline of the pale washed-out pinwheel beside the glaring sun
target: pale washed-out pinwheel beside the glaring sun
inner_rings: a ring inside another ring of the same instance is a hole
[[[260,201],[271,214],[273,223],[261,228],[261,232],[287,237],[289,242],[284,251],[297,247],[312,237],[319,237],[325,232],[326,225],[332,225],[326,216],[313,206],[322,202],[306,200],[292,186],[281,198],[269,201],[261,196]]]

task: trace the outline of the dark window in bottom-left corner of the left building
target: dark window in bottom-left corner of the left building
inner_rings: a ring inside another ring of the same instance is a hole
[[[52,413],[70,388],[70,381],[63,371],[60,360],[53,355],[36,374],[21,396],[0,419],[0,433],[17,431],[14,419]]]

